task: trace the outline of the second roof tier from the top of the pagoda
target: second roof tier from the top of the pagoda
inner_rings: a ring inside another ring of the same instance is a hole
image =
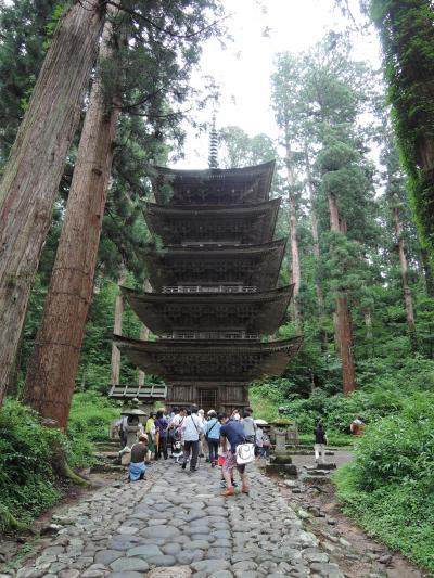
[[[145,219],[166,245],[207,241],[257,244],[272,240],[279,206],[280,198],[232,206],[150,203]]]

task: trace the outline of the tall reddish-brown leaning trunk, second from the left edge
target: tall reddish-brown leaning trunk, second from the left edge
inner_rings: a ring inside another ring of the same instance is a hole
[[[100,60],[112,54],[105,24]],[[110,174],[118,112],[105,103],[99,78],[92,86],[78,147],[65,222],[41,325],[28,364],[23,399],[65,428],[80,356]]]

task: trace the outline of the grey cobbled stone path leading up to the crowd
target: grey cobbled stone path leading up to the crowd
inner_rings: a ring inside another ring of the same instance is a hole
[[[224,498],[220,468],[154,463],[145,480],[108,485],[54,516],[56,537],[10,576],[343,578],[276,483],[247,471],[251,494]]]

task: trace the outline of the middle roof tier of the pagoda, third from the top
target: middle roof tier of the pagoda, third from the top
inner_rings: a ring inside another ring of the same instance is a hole
[[[275,288],[286,240],[260,245],[173,246],[148,249],[144,259],[155,292],[164,286],[231,284]]]

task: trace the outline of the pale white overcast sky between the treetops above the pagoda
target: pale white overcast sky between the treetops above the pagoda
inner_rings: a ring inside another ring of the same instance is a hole
[[[232,41],[226,49],[209,40],[203,49],[201,66],[192,77],[200,87],[203,76],[213,76],[220,89],[217,129],[241,127],[250,136],[265,132],[277,137],[270,105],[270,75],[278,52],[302,52],[319,41],[330,29],[342,30],[348,22],[334,7],[334,0],[222,0],[229,17],[225,24]],[[350,0],[355,16],[358,0]],[[266,31],[266,34],[265,34]],[[355,57],[380,66],[375,34],[354,36]],[[199,121],[209,120],[212,108],[197,113]],[[208,139],[188,130],[184,158],[177,168],[207,168]]]

